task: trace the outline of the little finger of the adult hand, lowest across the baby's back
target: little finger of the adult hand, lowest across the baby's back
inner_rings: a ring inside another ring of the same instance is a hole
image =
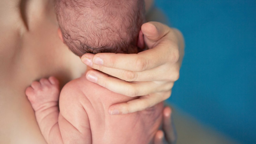
[[[140,96],[138,99],[134,99],[129,102],[111,105],[108,109],[108,113],[111,115],[117,115],[145,110],[158,104],[159,102],[164,101],[165,99],[169,98],[170,95],[171,91],[164,91],[146,96]]]

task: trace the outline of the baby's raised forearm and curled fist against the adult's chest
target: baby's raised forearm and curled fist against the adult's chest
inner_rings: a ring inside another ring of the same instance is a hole
[[[63,143],[58,124],[59,93],[59,81],[55,77],[34,81],[26,89],[37,123],[48,144]]]

